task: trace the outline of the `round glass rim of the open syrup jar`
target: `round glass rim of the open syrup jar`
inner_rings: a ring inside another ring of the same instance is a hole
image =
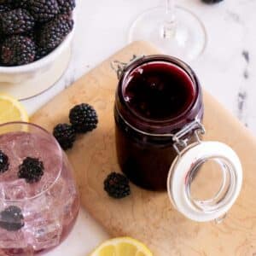
[[[138,114],[135,111],[132,111],[131,108],[129,107],[128,103],[125,102],[125,96],[124,96],[124,87],[125,84],[127,84],[127,79],[129,79],[129,76],[132,71],[134,71],[137,67],[142,66],[143,64],[150,63],[150,62],[166,62],[166,63],[171,63],[172,65],[180,68],[184,73],[186,73],[189,76],[189,79],[191,80],[192,84],[194,85],[195,89],[195,96],[193,97],[192,102],[189,104],[187,108],[183,110],[182,113],[179,113],[177,116],[171,117],[171,118],[166,118],[166,119],[147,119],[143,117],[142,115]],[[166,133],[175,131],[179,128],[182,128],[183,122],[179,122],[180,119],[183,119],[189,112],[192,112],[195,106],[199,103],[201,100],[201,85],[199,82],[199,79],[195,75],[195,72],[191,67],[189,67],[188,64],[185,62],[172,57],[170,55],[148,55],[148,56],[143,56],[142,58],[138,58],[137,61],[132,61],[130,64],[125,67],[122,75],[120,76],[119,79],[119,85],[117,89],[117,98],[119,100],[116,101],[116,108],[119,109],[119,112],[122,114],[123,118],[130,123],[130,119],[132,117],[136,117],[138,126],[137,128],[141,128],[141,126],[144,126],[145,130],[147,129],[147,126],[151,126],[151,130],[157,130],[157,133]],[[119,104],[124,106],[125,111],[120,111]],[[197,116],[197,114],[195,114]],[[195,116],[193,119],[195,119]],[[188,121],[191,121],[192,119],[189,119]],[[173,126],[174,129],[170,131],[170,127]],[[165,127],[163,129],[163,127]],[[144,130],[140,129],[140,130]],[[164,131],[161,131],[164,130]],[[154,131],[155,132],[155,131]]]

